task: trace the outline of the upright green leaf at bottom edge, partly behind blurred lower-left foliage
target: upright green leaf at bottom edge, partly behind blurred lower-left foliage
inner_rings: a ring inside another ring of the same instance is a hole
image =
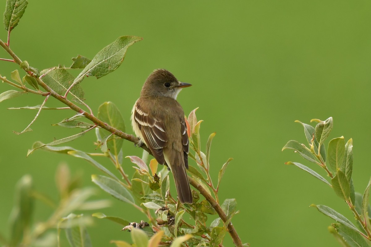
[[[82,215],[70,214],[69,216],[66,217],[67,222],[73,219],[76,219],[76,218],[78,219],[81,216]],[[88,231],[86,231],[83,224],[74,226],[74,227],[67,227],[65,231],[66,231],[66,237],[67,237],[68,243],[70,244],[71,247],[91,247],[92,246]]]

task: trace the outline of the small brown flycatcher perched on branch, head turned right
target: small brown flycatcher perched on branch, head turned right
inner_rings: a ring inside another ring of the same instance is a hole
[[[135,134],[157,162],[162,165],[166,162],[173,173],[181,203],[192,203],[193,198],[185,171],[189,151],[187,126],[183,108],[176,99],[182,88],[190,86],[167,70],[155,70],[144,82],[131,115]]]

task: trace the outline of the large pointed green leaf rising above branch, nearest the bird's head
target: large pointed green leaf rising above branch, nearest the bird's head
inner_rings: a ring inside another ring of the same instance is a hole
[[[128,47],[140,40],[142,40],[142,38],[135,36],[119,37],[113,43],[99,51],[93,60],[81,71],[78,77],[76,77],[73,83],[80,83],[85,76],[89,75],[99,79],[116,70],[124,60]]]

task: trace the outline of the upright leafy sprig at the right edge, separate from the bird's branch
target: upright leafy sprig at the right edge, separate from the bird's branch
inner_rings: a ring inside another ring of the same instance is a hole
[[[287,162],[286,164],[295,165],[326,183],[326,185],[332,187],[335,194],[343,199],[352,210],[355,219],[357,220],[357,226],[355,226],[351,220],[348,220],[346,217],[328,206],[314,204],[311,206],[316,207],[319,212],[338,222],[332,224],[332,226],[329,227],[329,230],[335,235],[336,239],[342,244],[342,246],[369,246],[368,243],[371,241],[371,221],[369,217],[371,213],[369,205],[371,179],[363,195],[354,191],[352,181],[352,139],[349,139],[347,143],[345,143],[344,136],[332,139],[328,143],[326,153],[324,142],[328,138],[333,127],[332,117],[325,121],[312,119],[311,122],[318,122],[315,127],[304,124],[300,121],[295,122],[303,125],[309,147],[305,144],[299,143],[298,141],[291,140],[286,143],[282,150],[295,150],[295,152],[299,153],[304,159],[319,165],[326,171],[328,177],[331,178],[331,181],[328,181],[323,176],[301,163]]]

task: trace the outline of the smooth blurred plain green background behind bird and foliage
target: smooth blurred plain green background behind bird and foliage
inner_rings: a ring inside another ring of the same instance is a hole
[[[0,4],[0,12],[5,1]],[[223,177],[220,198],[236,198],[240,213],[233,224],[243,242],[252,246],[339,246],[328,233],[333,221],[308,208],[325,204],[352,219],[346,204],[332,190],[298,168],[291,160],[308,164],[299,155],[281,152],[290,139],[305,142],[302,126],[312,118],[334,118],[330,138],[354,140],[354,185],[362,192],[371,175],[371,2],[355,1],[29,1],[26,13],[12,32],[11,48],[33,67],[70,65],[78,54],[92,58],[121,35],[144,37],[129,48],[114,73],[82,82],[86,102],[94,109],[114,102],[132,133],[129,117],[142,84],[156,68],[166,68],[181,81],[193,84],[178,101],[186,114],[203,119],[203,145],[217,132],[211,148],[212,176],[234,158]],[[6,31],[0,33],[6,40]],[[0,50],[0,57],[8,58]],[[0,61],[0,74],[10,78],[15,64]],[[12,89],[0,85],[0,92]],[[7,219],[16,181],[31,174],[35,187],[57,199],[55,170],[66,162],[81,172],[84,186],[92,186],[98,170],[66,155],[36,151],[26,158],[35,141],[50,142],[78,132],[51,126],[72,111],[42,111],[33,132],[15,135],[36,111],[7,110],[37,105],[36,95],[0,104],[0,232],[8,234]],[[48,106],[62,106],[50,99]],[[93,152],[93,133],[68,143]],[[124,142],[124,155],[141,150]],[[105,162],[104,160],[101,160]],[[113,166],[106,163],[111,170]],[[194,165],[194,163],[191,163]],[[124,160],[124,169],[132,173]],[[325,174],[321,172],[322,175]],[[98,190],[97,198],[111,198]],[[112,198],[113,206],[99,210],[129,221],[145,219],[132,207]],[[37,203],[36,219],[51,210]],[[92,212],[93,213],[93,212]],[[95,220],[89,229],[93,246],[128,239],[120,226]],[[232,246],[230,237],[225,246]]]

